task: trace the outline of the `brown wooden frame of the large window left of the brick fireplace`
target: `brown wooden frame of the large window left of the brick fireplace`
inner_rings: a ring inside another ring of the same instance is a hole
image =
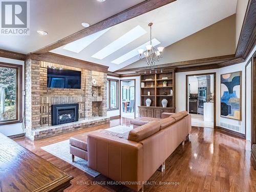
[[[22,100],[22,90],[23,90],[23,73],[22,65],[15,65],[11,63],[0,62],[0,67],[13,68],[16,69],[16,119],[5,120],[0,122],[1,125],[22,123],[22,112],[23,112],[23,100]]]

